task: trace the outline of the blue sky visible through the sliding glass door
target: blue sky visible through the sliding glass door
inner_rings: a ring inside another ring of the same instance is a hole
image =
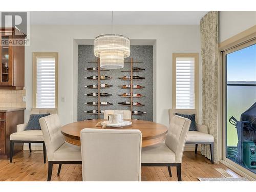
[[[228,81],[256,81],[256,44],[227,55]]]

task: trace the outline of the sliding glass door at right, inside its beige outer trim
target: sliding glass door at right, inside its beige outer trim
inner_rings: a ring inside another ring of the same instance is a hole
[[[256,41],[222,53],[224,159],[256,174]]]

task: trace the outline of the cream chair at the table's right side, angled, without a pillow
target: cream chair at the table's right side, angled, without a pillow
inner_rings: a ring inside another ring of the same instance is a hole
[[[189,119],[174,115],[165,143],[142,148],[141,166],[167,166],[170,177],[170,167],[176,166],[178,181],[181,181],[181,162],[190,123]]]

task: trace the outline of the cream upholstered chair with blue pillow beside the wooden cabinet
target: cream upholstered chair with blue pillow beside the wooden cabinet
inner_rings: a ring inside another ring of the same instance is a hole
[[[48,108],[32,108],[30,114],[54,114],[57,109]],[[31,143],[42,143],[44,153],[44,163],[46,163],[46,146],[41,130],[27,130],[25,128],[28,123],[18,124],[17,132],[10,135],[10,162],[12,162],[14,143],[29,143],[29,151],[32,152]]]

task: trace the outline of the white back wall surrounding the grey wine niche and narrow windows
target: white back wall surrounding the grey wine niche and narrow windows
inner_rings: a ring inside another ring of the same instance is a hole
[[[77,109],[77,98],[73,96],[77,86],[74,80],[77,76],[77,45],[74,39],[94,39],[110,31],[111,26],[104,25],[30,26],[30,46],[25,48],[26,121],[32,107],[32,52],[59,53],[58,112],[62,124],[67,124],[74,121]],[[200,53],[199,25],[119,25],[114,27],[114,32],[130,39],[156,39],[154,109],[156,122],[168,125],[167,110],[172,108],[172,53]],[[61,102],[61,96],[66,97],[66,102]]]

